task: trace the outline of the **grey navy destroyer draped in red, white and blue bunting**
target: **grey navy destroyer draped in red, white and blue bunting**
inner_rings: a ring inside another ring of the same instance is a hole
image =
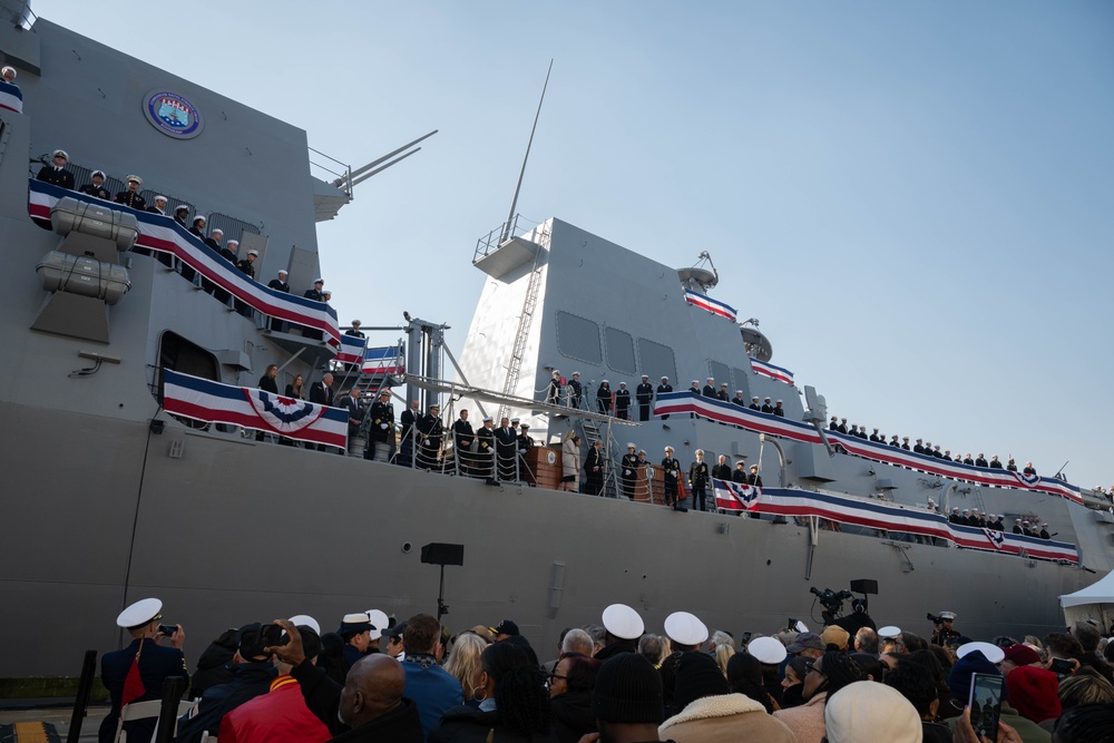
[[[710,264],[666,266],[556,218],[512,217],[479,241],[487,278],[459,360],[443,323],[408,317],[390,373],[350,373],[326,303],[246,277],[201,236],[219,227],[241,258],[255,253],[257,277],[281,268],[311,286],[315,222],[336,216],[359,176],[314,178],[297,128],[3,7],[0,52],[18,76],[0,108],[0,630],[20,638],[6,675],[76,674],[86,648],[118,646],[120,608],[150,595],[193,638],[190,661],[229,623],[437,610],[439,571],[420,549],[434,542],[463,546],[444,622],[512,617],[538,647],[616,600],[651,627],[685,608],[771,632],[809,616],[810,588],[858,579],[877,583],[872,614],[921,634],[942,606],[973,636],[1039,633],[1062,624],[1057,595],[1111,569],[1114,517],[1095,493],[824,431],[823,395],[713,296]],[[75,111],[96,115],[75,126]],[[145,203],[168,197],[166,214],[38,180],[60,146],[75,186],[102,170],[116,194],[138,175]],[[215,177],[229,169],[235,179]],[[175,223],[178,205],[186,225],[208,217],[202,235]],[[272,364],[280,390],[329,370],[336,391],[405,382],[397,418],[437,402],[448,427],[467,405],[473,421],[529,422],[543,446],[505,480],[466,477],[448,439],[429,470],[341,457],[343,416],[254,390]],[[560,384],[574,371],[583,405]],[[604,379],[633,391],[643,374],[674,387],[647,420],[637,404],[628,421],[594,407]],[[685,391],[709,378],[781,400],[784,416]],[[544,477],[569,432],[602,442],[605,497]],[[636,502],[615,497],[627,442],[651,462]],[[666,446],[686,467],[696,449],[755,465],[764,487],[719,482],[710,512],[667,508],[653,466]],[[1055,537],[949,525],[954,507],[1039,519]]]

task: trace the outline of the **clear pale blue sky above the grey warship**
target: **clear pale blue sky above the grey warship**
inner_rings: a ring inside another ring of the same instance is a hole
[[[106,8],[35,6],[353,165],[440,129],[319,229],[344,321],[408,310],[459,351],[553,57],[525,216],[709,250],[852,422],[1114,483],[1110,2]]]

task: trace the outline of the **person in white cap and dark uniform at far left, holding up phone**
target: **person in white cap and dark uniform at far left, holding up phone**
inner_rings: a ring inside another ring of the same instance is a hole
[[[162,698],[163,681],[170,676],[180,676],[185,683],[189,683],[189,672],[182,653],[186,633],[182,625],[174,625],[174,630],[169,634],[170,646],[160,645],[168,636],[164,629],[170,628],[159,624],[162,612],[163,602],[144,598],[116,617],[116,626],[127,630],[131,636],[131,644],[124,649],[105,653],[100,659],[100,680],[111,700],[108,716],[100,724],[101,741],[115,740],[124,705]],[[136,720],[126,723],[124,730],[129,740],[148,741],[155,733],[156,722],[156,717]]]

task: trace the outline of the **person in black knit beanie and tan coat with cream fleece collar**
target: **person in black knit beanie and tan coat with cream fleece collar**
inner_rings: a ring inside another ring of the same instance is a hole
[[[795,743],[797,737],[745,694],[733,694],[712,656],[685,653],[677,667],[674,715],[657,732],[677,743],[763,741]]]

